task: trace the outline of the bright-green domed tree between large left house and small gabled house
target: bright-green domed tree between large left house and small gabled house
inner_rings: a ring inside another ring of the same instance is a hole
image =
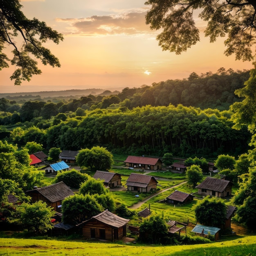
[[[92,177],[89,177],[88,180],[83,182],[80,186],[79,193],[86,195],[94,195],[94,194],[107,194],[109,190],[103,184],[103,180],[96,180]]]

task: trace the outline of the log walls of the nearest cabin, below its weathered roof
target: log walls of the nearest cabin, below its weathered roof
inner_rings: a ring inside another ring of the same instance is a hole
[[[104,239],[109,241],[116,241],[124,236],[126,236],[126,225],[123,227],[115,228],[110,227],[102,222],[99,222],[98,220],[92,219],[89,222],[86,222],[83,225],[83,238],[90,239],[91,237],[91,230],[94,229],[95,232],[95,239]],[[100,229],[105,230],[105,238],[100,237]]]

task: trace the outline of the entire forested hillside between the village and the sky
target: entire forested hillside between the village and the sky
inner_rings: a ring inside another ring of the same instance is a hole
[[[250,133],[232,128],[229,106],[241,101],[234,90],[248,78],[249,71],[220,68],[216,74],[192,73],[188,79],[117,94],[6,96],[0,99],[0,135],[18,145],[36,141],[46,149],[100,145],[136,155],[237,156],[247,151]]]

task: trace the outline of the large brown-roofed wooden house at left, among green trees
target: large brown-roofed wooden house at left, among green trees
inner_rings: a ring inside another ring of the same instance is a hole
[[[42,200],[50,207],[53,207],[54,211],[60,211],[62,200],[70,195],[74,195],[73,191],[63,181],[50,186],[35,188],[26,191],[26,193],[31,196],[32,202]]]

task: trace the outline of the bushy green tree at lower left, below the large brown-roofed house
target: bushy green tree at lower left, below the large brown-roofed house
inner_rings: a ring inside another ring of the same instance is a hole
[[[51,220],[55,211],[46,202],[22,203],[19,211],[21,223],[28,231],[43,234],[53,228]]]

